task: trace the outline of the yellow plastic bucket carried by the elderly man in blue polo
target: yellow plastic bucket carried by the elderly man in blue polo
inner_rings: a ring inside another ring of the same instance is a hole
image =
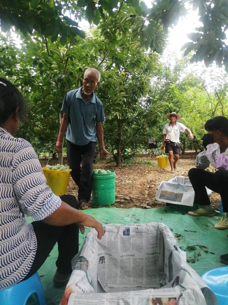
[[[42,170],[47,179],[47,185],[50,186],[52,192],[55,195],[66,194],[71,170],[56,171],[48,170],[46,167],[43,167]]]

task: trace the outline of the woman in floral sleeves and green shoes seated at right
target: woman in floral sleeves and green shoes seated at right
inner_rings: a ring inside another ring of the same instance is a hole
[[[196,157],[196,168],[191,168],[188,172],[195,191],[195,203],[199,204],[199,209],[189,211],[188,215],[215,216],[215,210],[207,195],[207,187],[221,196],[225,214],[214,227],[224,230],[228,229],[228,120],[225,117],[213,117],[206,121],[205,129],[208,132],[203,137],[206,149]],[[210,163],[218,169],[215,173],[205,170]]]

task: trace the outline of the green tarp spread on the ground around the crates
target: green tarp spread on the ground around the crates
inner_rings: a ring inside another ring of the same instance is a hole
[[[194,208],[191,209],[193,210]],[[187,206],[170,205],[147,210],[139,208],[119,209],[115,207],[103,207],[86,210],[85,213],[92,215],[98,221],[102,222],[102,224],[163,222],[172,229],[173,234],[178,233],[183,236],[183,238],[178,240],[180,247],[185,248],[187,246],[201,245],[208,248],[207,252],[204,252],[199,246],[196,246],[197,250],[186,249],[187,257],[194,257],[194,253],[201,253],[199,261],[190,264],[198,274],[221,267],[216,261],[219,261],[220,254],[228,253],[228,230],[214,229],[214,224],[219,221],[221,214],[217,213],[215,217],[191,217],[187,215],[188,210],[190,209]],[[87,232],[88,230],[86,230],[85,234]],[[85,236],[80,233],[80,247],[84,239]],[[38,272],[47,305],[58,305],[64,292],[64,288],[56,289],[53,285],[56,259],[57,245]],[[30,300],[28,304],[35,303],[33,300]]]

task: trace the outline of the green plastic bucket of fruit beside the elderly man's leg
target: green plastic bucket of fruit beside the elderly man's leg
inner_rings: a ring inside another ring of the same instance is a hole
[[[92,197],[95,206],[109,206],[115,203],[115,170],[109,174],[93,174]]]

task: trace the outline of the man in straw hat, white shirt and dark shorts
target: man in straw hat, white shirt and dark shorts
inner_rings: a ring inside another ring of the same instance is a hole
[[[175,173],[176,163],[181,153],[180,132],[187,131],[189,133],[190,140],[193,140],[193,135],[192,131],[188,129],[184,124],[177,122],[180,120],[179,114],[171,112],[168,113],[166,117],[168,120],[170,120],[170,122],[168,124],[165,124],[164,126],[161,149],[164,149],[165,144],[165,152],[169,153],[169,164],[171,166],[171,173]]]

